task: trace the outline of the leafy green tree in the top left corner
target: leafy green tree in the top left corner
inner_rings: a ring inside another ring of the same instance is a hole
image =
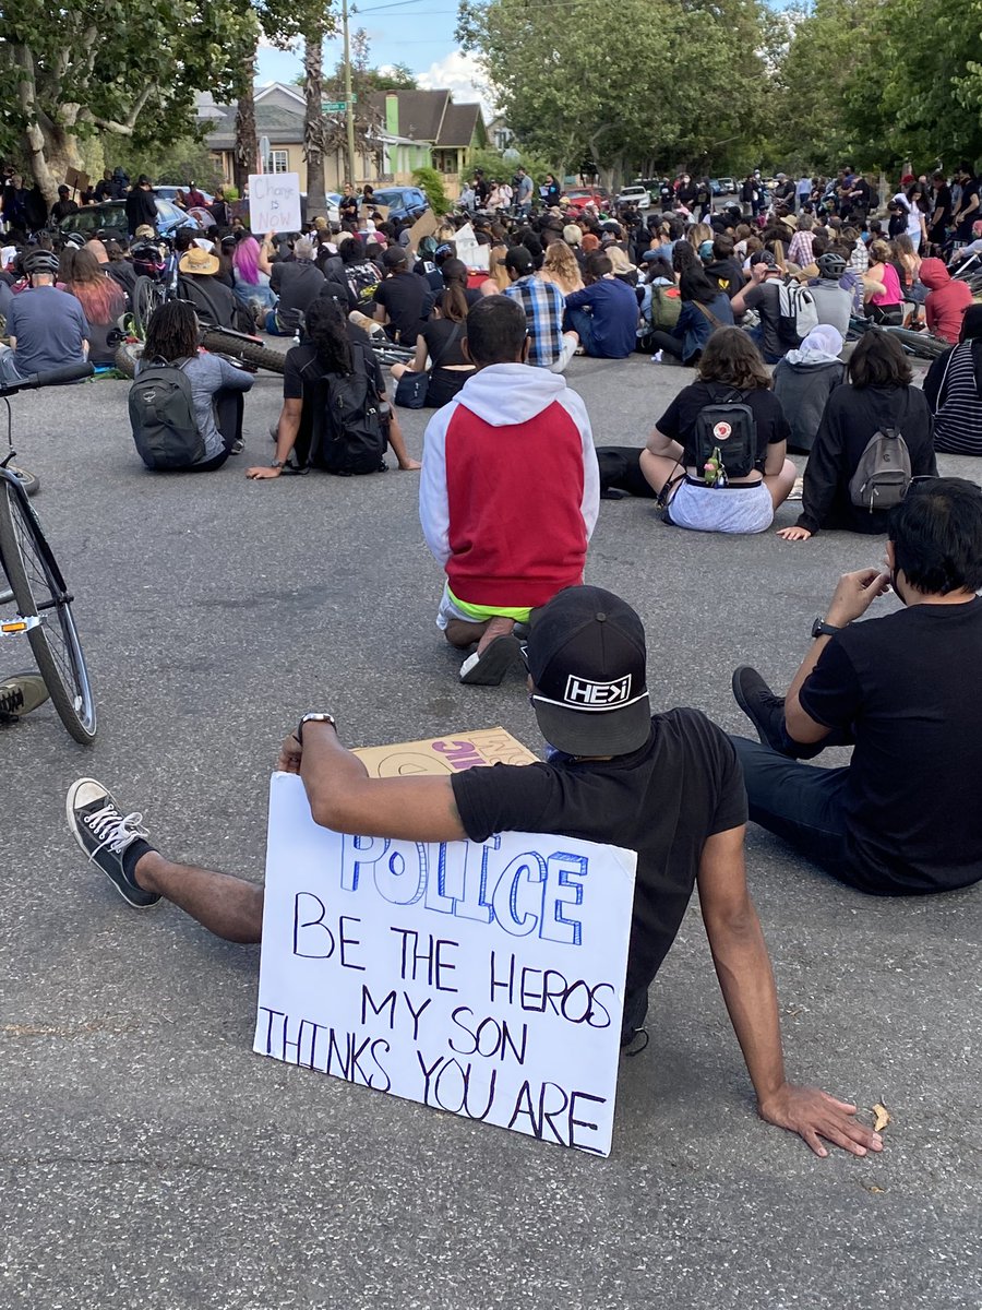
[[[232,0],[12,0],[0,12],[0,148],[20,149],[51,203],[80,141],[137,145],[164,122],[192,126],[195,90],[232,94],[255,46],[255,16]]]

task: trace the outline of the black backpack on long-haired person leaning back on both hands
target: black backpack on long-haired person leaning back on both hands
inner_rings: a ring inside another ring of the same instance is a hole
[[[316,469],[351,477],[385,468],[386,434],[374,379],[357,346],[352,373],[325,373],[317,384],[309,462]]]

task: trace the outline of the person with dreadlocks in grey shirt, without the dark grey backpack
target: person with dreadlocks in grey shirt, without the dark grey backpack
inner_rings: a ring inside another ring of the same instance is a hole
[[[194,307],[186,300],[165,301],[151,316],[136,375],[139,377],[144,368],[158,364],[169,364],[187,375],[204,455],[181,472],[209,473],[220,469],[229,455],[238,455],[242,449],[242,397],[254,379],[221,355],[199,350],[199,335]]]

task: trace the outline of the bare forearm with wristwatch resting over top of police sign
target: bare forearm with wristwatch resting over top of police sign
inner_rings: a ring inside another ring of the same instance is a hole
[[[305,723],[280,747],[278,766],[299,773],[314,823],[335,832],[403,841],[464,841],[453,786],[440,778],[369,778],[330,723]]]

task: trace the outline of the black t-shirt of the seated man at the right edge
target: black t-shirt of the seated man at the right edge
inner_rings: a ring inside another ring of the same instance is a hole
[[[871,889],[982,879],[982,601],[910,608],[833,637],[799,698],[855,735],[847,848]]]

